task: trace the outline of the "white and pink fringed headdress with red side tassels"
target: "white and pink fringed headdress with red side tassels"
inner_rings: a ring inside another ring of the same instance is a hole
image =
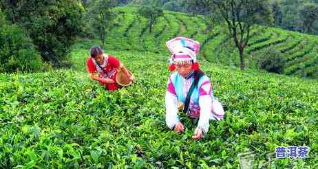
[[[199,68],[199,63],[196,58],[199,53],[200,43],[190,38],[176,37],[166,43],[171,57],[169,59],[169,70],[174,71],[175,65],[184,65],[193,63],[193,69]]]

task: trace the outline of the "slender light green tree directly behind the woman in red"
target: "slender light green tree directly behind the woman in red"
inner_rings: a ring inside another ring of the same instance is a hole
[[[116,13],[112,11],[112,8],[116,5],[115,0],[99,0],[95,1],[92,7],[92,26],[98,34],[101,45],[104,46],[105,38],[109,33],[112,21],[116,17]]]

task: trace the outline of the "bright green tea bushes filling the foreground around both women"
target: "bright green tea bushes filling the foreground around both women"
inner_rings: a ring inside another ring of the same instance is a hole
[[[130,87],[110,93],[89,79],[85,60],[98,41],[74,45],[72,69],[0,74],[0,168],[239,168],[237,155],[246,150],[254,152],[258,168],[267,166],[266,155],[276,146],[308,146],[310,153],[306,159],[272,159],[272,167],[318,167],[317,80],[240,71],[200,58],[215,95],[227,106],[227,118],[211,122],[208,135],[197,142],[189,118],[183,135],[165,125],[167,54],[163,46],[159,54],[125,51],[134,44],[127,41],[132,32],[140,31],[126,15],[127,24],[112,32],[127,34],[109,38],[107,52],[134,72],[137,80]],[[159,22],[176,24],[172,20],[178,17],[167,14]],[[158,45],[190,27],[155,28]],[[156,50],[147,45],[152,36],[143,30],[138,36],[144,46],[135,49]]]

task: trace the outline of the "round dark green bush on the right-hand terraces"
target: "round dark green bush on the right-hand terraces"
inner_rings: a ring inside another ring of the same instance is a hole
[[[268,72],[282,73],[286,65],[286,57],[275,47],[268,47],[259,55],[259,67]]]

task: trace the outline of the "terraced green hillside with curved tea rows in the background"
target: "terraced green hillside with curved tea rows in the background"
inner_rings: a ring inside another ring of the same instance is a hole
[[[116,8],[120,11],[117,27],[107,35],[106,49],[155,52],[167,56],[165,42],[175,36],[194,38],[202,45],[200,56],[211,63],[239,67],[240,60],[233,40],[220,25],[208,25],[203,16],[187,16],[165,11],[149,34],[147,20],[136,14],[136,8]],[[247,67],[258,68],[259,52],[275,47],[287,58],[284,74],[318,77],[318,37],[289,32],[273,27],[255,27],[245,49]]]

